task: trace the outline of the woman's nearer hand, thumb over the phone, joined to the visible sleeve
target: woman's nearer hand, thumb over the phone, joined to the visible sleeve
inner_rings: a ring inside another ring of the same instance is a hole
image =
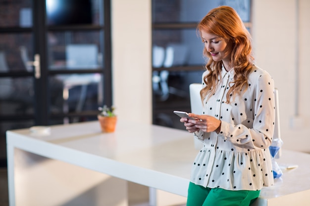
[[[195,124],[197,128],[200,128],[204,132],[216,131],[219,133],[221,127],[221,121],[209,116],[209,115],[195,115],[193,113],[189,113],[190,117],[193,117],[198,120],[189,119],[188,122]]]

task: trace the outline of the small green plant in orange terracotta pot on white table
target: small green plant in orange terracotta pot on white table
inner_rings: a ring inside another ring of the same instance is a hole
[[[113,132],[115,131],[115,126],[117,122],[117,117],[114,113],[115,108],[107,107],[104,105],[103,107],[99,107],[98,110],[101,112],[98,114],[98,120],[101,125],[101,130],[103,132]]]

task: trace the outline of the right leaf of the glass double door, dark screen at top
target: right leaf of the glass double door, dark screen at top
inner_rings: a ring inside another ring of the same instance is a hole
[[[109,7],[108,0],[46,0],[50,124],[95,120],[99,106],[111,106]]]

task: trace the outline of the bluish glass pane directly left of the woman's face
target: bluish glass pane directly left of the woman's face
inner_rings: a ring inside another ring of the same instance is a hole
[[[196,29],[153,30],[153,67],[204,65]]]

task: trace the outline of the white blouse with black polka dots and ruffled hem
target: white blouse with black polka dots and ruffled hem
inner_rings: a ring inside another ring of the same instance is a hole
[[[200,131],[196,135],[204,148],[194,161],[191,181],[210,188],[260,190],[273,182],[268,146],[274,119],[265,115],[270,109],[274,112],[273,80],[255,66],[242,97],[233,100],[229,94],[227,103],[234,71],[221,75],[222,84],[205,98],[203,113],[221,120],[221,129],[219,134]]]

